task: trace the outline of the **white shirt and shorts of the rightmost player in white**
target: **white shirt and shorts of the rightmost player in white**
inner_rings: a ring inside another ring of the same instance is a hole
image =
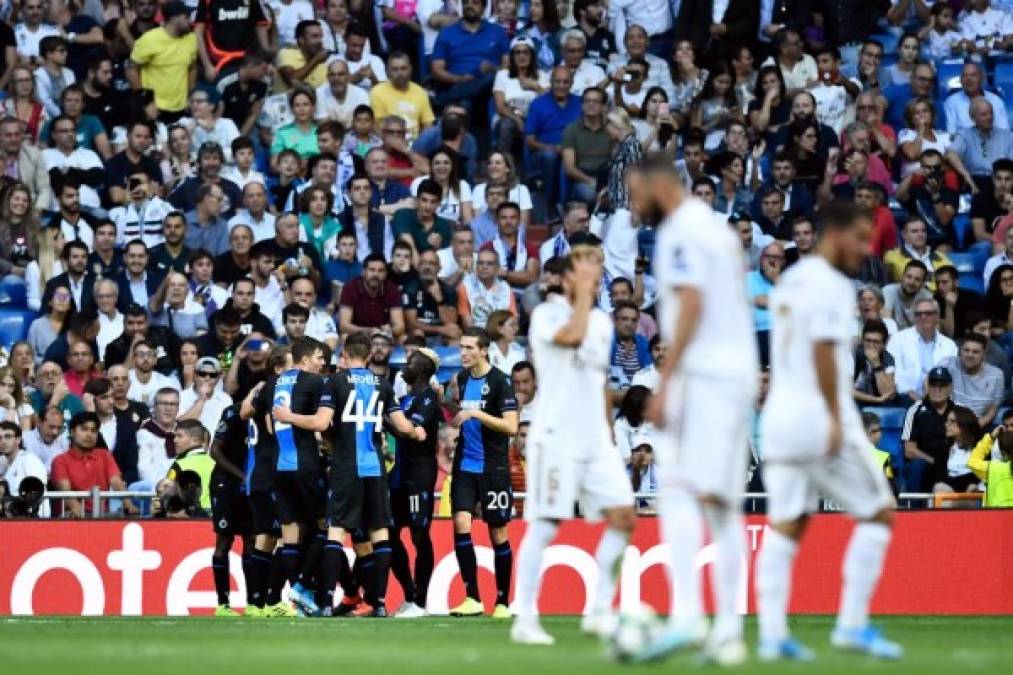
[[[886,477],[868,452],[852,398],[855,290],[822,256],[801,259],[770,295],[771,388],[761,433],[768,515],[785,522],[811,513],[819,496],[860,519],[893,504]],[[834,344],[837,397],[843,427],[840,452],[827,447],[830,415],[816,379],[813,348]]]

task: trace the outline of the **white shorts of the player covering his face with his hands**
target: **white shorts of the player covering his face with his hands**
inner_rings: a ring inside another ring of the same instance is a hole
[[[573,517],[578,503],[587,520],[599,520],[609,509],[633,506],[626,467],[612,443],[573,452],[553,443],[551,434],[547,437],[528,438],[526,520],[566,520]]]

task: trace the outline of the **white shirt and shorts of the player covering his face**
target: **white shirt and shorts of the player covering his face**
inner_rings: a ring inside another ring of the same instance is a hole
[[[580,347],[560,347],[553,339],[572,313],[566,299],[554,295],[531,314],[528,339],[538,373],[538,398],[527,444],[524,515],[529,521],[571,518],[577,502],[589,519],[633,505],[626,467],[606,417],[612,319],[593,309]]]

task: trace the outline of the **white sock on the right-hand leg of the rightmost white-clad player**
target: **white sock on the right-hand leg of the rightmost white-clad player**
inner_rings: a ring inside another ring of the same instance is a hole
[[[844,554],[844,588],[838,628],[864,628],[869,622],[869,601],[882,573],[890,529],[882,523],[859,523]]]

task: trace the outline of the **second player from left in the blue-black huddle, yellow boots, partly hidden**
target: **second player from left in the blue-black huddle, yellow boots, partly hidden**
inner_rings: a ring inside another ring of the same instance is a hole
[[[267,360],[272,381],[292,369],[292,350],[287,346],[276,347]],[[270,401],[260,399],[266,382],[256,385],[243,399],[239,415],[246,421],[246,461],[244,463],[244,492],[249,501],[251,530],[255,537],[253,552],[247,565],[246,584],[250,587],[250,604],[246,616],[292,617],[292,605],[282,601],[285,587],[285,568],[281,554],[276,555],[282,526],[278,522],[272,496],[275,488],[275,436],[270,433],[268,419]]]

